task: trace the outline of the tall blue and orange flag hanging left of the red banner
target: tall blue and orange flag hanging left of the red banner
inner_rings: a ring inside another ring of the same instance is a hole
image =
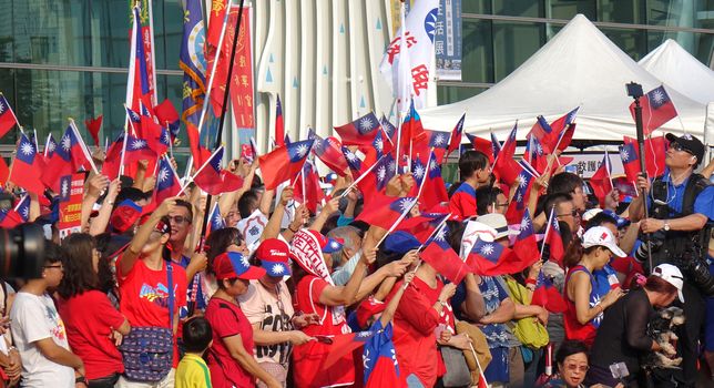
[[[183,19],[183,41],[178,67],[183,70],[183,112],[181,119],[198,125],[201,109],[206,94],[206,59],[204,43],[206,30],[203,23],[201,0],[186,0]]]

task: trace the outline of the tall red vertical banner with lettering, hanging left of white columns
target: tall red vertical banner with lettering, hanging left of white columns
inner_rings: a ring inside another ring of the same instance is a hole
[[[243,8],[241,18],[241,31],[235,48],[233,63],[233,76],[231,82],[231,101],[233,103],[233,115],[236,124],[244,129],[255,127],[254,104],[253,104],[253,53],[251,47],[251,8]],[[237,19],[237,12],[231,12],[232,19]],[[232,20],[230,25],[235,25]]]

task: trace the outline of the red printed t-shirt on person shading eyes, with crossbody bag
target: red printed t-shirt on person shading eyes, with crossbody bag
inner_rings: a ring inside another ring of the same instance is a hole
[[[116,274],[120,274],[121,257],[116,261]],[[186,306],[186,270],[180,265],[172,265],[174,288],[174,314]],[[141,258],[126,276],[116,276],[119,282],[119,310],[133,326],[152,326],[171,328],[169,319],[169,275],[166,263],[161,270],[151,269]],[[178,366],[178,348],[174,337],[173,367]]]

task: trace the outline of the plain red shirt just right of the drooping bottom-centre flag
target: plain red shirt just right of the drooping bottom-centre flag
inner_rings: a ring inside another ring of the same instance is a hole
[[[385,303],[394,297],[404,282],[398,282],[391,288]],[[425,387],[434,387],[437,377],[443,375],[443,361],[437,350],[435,329],[439,323],[446,323],[439,316],[434,304],[439,299],[443,284],[437,280],[437,287],[431,288],[424,280],[415,277],[399,300],[394,318],[394,344],[399,363],[399,374],[415,374]],[[447,313],[442,313],[447,315]],[[453,317],[450,316],[451,323]]]

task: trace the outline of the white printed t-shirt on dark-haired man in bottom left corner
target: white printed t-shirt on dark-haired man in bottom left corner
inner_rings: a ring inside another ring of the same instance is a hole
[[[74,369],[49,360],[35,344],[52,338],[58,346],[70,349],[64,323],[52,298],[20,292],[12,303],[10,318],[14,345],[22,359],[22,387],[73,388]]]

